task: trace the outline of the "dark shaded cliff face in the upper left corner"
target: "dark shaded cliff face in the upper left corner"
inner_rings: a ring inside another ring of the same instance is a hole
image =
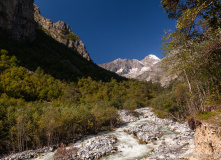
[[[14,40],[35,39],[34,0],[1,0],[0,29]]]

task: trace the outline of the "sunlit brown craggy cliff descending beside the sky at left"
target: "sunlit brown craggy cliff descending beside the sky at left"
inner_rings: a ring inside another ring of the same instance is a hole
[[[82,57],[91,60],[83,42],[80,38],[71,32],[71,27],[63,21],[53,23],[52,20],[41,16],[39,7],[34,4],[34,18],[39,27],[58,42],[63,43],[74,51],[77,51]]]

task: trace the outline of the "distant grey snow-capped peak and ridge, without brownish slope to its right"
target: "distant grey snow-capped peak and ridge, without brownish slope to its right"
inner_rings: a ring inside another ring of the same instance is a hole
[[[99,66],[127,78],[137,78],[145,71],[151,70],[151,68],[160,61],[161,60],[155,55],[148,55],[141,61],[137,59],[128,60],[118,58],[112,62],[100,64]]]

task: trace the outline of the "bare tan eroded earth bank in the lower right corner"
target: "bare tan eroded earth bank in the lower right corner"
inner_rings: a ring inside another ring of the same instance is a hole
[[[202,123],[196,128],[194,143],[191,160],[221,159],[221,127]]]

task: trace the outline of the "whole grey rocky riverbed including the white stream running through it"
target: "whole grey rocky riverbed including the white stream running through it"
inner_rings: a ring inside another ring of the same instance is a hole
[[[136,117],[125,110],[119,111],[125,123],[115,131],[87,136],[66,148],[38,154],[34,159],[75,160],[149,160],[184,159],[194,150],[194,132],[187,123],[160,119],[151,108],[135,110]],[[5,159],[29,159],[28,152]],[[34,153],[33,153],[34,154]],[[33,156],[32,154],[32,156]],[[22,157],[23,156],[23,157]]]

